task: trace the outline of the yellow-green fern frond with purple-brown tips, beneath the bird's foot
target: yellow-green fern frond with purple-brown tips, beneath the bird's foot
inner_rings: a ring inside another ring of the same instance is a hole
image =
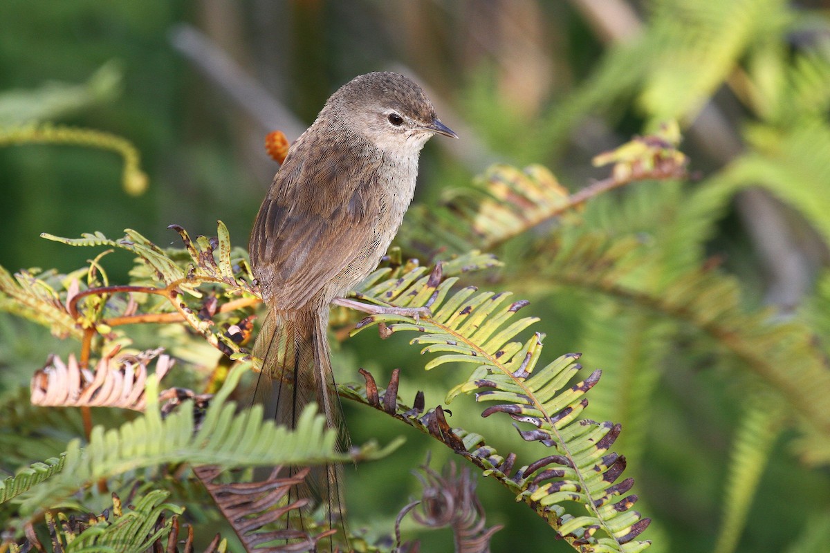
[[[625,468],[625,458],[608,453],[620,432],[619,425],[579,420],[588,405],[585,393],[598,381],[594,371],[572,383],[579,368],[579,355],[568,354],[537,368],[542,352],[542,335],[536,332],[524,341],[516,337],[538,318],[517,318],[528,302],[508,303],[510,293],[478,292],[466,287],[455,293],[449,288],[455,279],[441,280],[441,265],[431,275],[403,274],[361,290],[364,298],[398,307],[429,307],[432,316],[414,321],[397,314],[364,318],[355,328],[383,324],[383,334],[414,331],[420,336],[413,344],[424,345],[422,353],[437,353],[425,368],[447,363],[470,363],[476,368],[447,395],[450,402],[459,394],[476,394],[477,401],[496,401],[482,413],[510,415],[520,424],[528,441],[554,448],[556,454],[531,465],[516,490],[517,498],[535,507],[551,526],[574,545],[590,545],[595,551],[640,551],[648,545],[634,541],[648,525],[648,519],[629,510],[627,500],[613,498],[631,488],[631,478],[614,484]],[[440,284],[439,284],[440,283]],[[460,450],[456,445],[453,449]],[[464,444],[466,451],[466,444]],[[550,464],[557,468],[544,468]],[[544,468],[544,470],[540,470]],[[531,473],[535,473],[530,479]],[[587,514],[569,515],[564,502],[578,502]],[[595,537],[602,530],[605,536]]]

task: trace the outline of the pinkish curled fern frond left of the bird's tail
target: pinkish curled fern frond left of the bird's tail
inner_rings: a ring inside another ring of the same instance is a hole
[[[161,379],[173,360],[161,349],[104,357],[95,371],[82,369],[74,355],[66,363],[49,356],[46,366],[32,376],[32,405],[57,407],[120,407],[144,410],[147,367],[156,361],[155,375]]]

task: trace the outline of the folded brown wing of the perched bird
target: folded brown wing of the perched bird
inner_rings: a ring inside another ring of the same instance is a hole
[[[317,146],[317,148],[314,148]],[[251,263],[266,301],[301,308],[348,264],[377,246],[372,188],[381,160],[342,143],[295,143],[251,231]],[[315,153],[325,152],[320,156]]]

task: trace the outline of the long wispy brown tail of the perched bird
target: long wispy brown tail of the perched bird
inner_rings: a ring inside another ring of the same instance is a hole
[[[262,360],[255,400],[266,417],[295,428],[305,405],[316,401],[328,426],[338,432],[338,448],[349,447],[343,422],[327,337],[329,311],[279,311],[272,309],[254,346]],[[291,467],[293,475],[300,467]],[[330,527],[344,530],[342,467],[330,463],[312,468],[306,485],[296,487],[291,500],[309,497],[328,509]],[[291,524],[291,521],[289,521]]]

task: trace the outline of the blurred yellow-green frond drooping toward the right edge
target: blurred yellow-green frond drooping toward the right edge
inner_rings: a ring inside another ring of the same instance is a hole
[[[817,442],[812,447],[804,444],[809,460],[830,460],[830,449],[817,448],[830,443],[830,375],[808,327],[797,321],[775,322],[767,309],[745,312],[736,280],[717,270],[687,271],[660,288],[638,284],[632,275],[637,274],[640,258],[629,255],[628,238],[588,233],[572,244],[564,241],[550,245],[539,258],[538,274],[545,284],[605,293],[711,337],[783,395],[789,410],[801,415],[805,430],[814,433]]]

